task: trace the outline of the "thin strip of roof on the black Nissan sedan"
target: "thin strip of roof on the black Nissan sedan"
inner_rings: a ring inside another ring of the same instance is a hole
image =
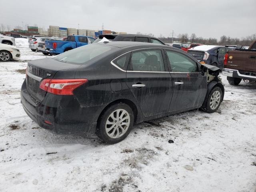
[[[118,48],[124,48],[128,46],[142,46],[143,48],[168,48],[179,50],[178,48],[173,48],[168,45],[154,44],[154,43],[145,43],[145,42],[134,42],[134,41],[107,41],[107,42],[97,42],[96,44],[105,44],[109,46],[114,46]]]

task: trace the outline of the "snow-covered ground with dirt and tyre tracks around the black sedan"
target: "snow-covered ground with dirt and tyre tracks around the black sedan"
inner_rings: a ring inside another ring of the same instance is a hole
[[[0,62],[1,192],[254,192],[256,84],[231,86],[218,112],[192,110],[140,123],[107,145],[38,127],[20,104],[27,60],[41,59],[26,39],[21,58]],[[169,143],[168,140],[174,140]],[[48,154],[52,153],[52,154]]]

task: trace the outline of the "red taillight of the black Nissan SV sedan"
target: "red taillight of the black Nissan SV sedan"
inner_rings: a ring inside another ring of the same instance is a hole
[[[73,95],[73,90],[88,79],[44,79],[39,88],[56,95]]]

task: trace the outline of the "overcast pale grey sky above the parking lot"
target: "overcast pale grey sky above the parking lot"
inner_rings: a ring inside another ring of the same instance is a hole
[[[152,33],[195,33],[204,38],[245,37],[256,33],[256,0],[8,0],[1,2],[0,23],[22,22],[49,28]],[[3,8],[5,7],[5,8]]]

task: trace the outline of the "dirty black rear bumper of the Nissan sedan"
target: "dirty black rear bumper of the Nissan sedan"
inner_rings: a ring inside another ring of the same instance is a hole
[[[80,106],[74,96],[60,96],[50,93],[46,94],[42,102],[38,102],[26,89],[26,80],[22,84],[20,95],[22,106],[28,116],[40,127],[57,134],[93,136],[98,117],[105,107]]]

